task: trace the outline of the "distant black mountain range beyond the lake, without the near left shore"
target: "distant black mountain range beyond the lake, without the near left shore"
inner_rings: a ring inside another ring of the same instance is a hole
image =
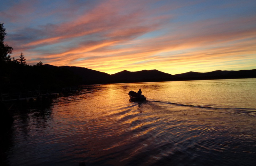
[[[74,66],[52,66],[44,64],[48,71],[61,73],[56,75],[63,79],[65,74],[69,73],[72,78],[76,78],[79,84],[104,84],[104,83],[130,83],[130,82],[160,82],[160,81],[180,81],[180,80],[204,80],[204,79],[240,79],[256,78],[256,69],[240,71],[213,71],[213,72],[186,72],[182,74],[168,74],[158,70],[142,70],[138,72],[129,72],[124,70],[115,74],[99,72],[84,67]]]

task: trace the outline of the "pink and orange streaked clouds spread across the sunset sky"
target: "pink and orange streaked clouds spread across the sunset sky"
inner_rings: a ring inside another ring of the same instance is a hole
[[[187,69],[214,66],[213,62],[232,66],[227,63],[230,58],[253,59],[255,55],[253,15],[180,22],[180,18],[187,19],[182,9],[190,9],[200,1],[165,5],[157,5],[158,1],[100,1],[88,4],[90,7],[81,7],[75,1],[69,3],[69,8],[66,4],[36,14],[52,18],[51,23],[21,27],[11,33],[8,45],[14,48],[13,52],[26,53],[30,63],[43,60],[44,64],[81,66],[111,73],[142,68],[170,71],[178,65]],[[31,3],[27,11],[36,12],[36,5]],[[20,9],[13,6],[9,10],[19,11],[24,7],[22,4]],[[196,13],[193,10],[189,13],[193,12]],[[22,16],[13,15],[13,20],[19,17]]]

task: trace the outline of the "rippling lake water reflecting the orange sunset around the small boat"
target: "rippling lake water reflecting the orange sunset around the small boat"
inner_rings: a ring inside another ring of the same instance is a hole
[[[142,90],[145,102],[129,101]],[[11,166],[256,165],[256,79],[87,86],[16,110]]]

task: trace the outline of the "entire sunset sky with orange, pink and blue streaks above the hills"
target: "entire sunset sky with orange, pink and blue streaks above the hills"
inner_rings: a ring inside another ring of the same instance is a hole
[[[28,64],[114,74],[256,69],[256,0],[0,0]]]

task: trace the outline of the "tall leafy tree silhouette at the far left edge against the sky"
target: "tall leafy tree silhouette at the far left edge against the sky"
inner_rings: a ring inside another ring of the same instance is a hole
[[[5,36],[7,35],[3,23],[0,22],[0,61],[3,62],[11,61],[11,56],[13,48],[4,44]]]

